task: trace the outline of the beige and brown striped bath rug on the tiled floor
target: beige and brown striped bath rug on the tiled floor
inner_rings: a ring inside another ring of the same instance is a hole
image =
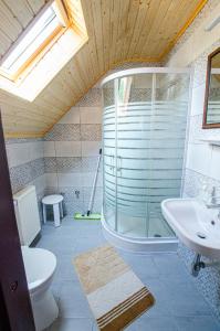
[[[99,330],[123,330],[154,305],[153,295],[114,247],[83,253],[73,264]]]

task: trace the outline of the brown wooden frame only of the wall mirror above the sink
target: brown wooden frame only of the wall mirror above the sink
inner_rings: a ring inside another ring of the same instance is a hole
[[[220,53],[220,47],[213,51],[208,56],[207,63],[207,79],[206,79],[206,92],[205,92],[205,105],[203,105],[203,120],[202,120],[202,129],[214,129],[220,128],[220,122],[207,124],[207,115],[208,115],[208,103],[209,103],[209,85],[210,85],[210,74],[211,74],[211,60],[214,55]]]

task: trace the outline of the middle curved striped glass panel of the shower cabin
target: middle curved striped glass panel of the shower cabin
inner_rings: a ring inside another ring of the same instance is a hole
[[[153,74],[118,78],[117,83],[117,224],[118,233],[147,237],[148,171]]]

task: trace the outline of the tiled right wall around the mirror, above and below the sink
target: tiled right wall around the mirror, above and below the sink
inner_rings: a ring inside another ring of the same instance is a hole
[[[220,129],[201,129],[207,57],[220,46],[220,24],[211,32],[206,32],[205,26],[216,18],[217,12],[220,12],[219,1],[208,1],[193,24],[180,39],[168,61],[170,66],[188,65],[193,70],[184,182],[184,195],[191,197],[205,196],[205,188],[210,192],[212,186],[220,186],[220,148],[201,140],[208,137],[220,139]],[[193,252],[180,245],[179,253],[190,269]],[[205,260],[207,259],[205,258]],[[216,266],[201,270],[196,282],[220,319],[220,267]]]

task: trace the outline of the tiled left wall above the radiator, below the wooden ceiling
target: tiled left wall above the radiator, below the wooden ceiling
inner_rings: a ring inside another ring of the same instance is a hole
[[[43,140],[7,139],[6,147],[12,193],[33,184],[40,202],[45,192]]]

